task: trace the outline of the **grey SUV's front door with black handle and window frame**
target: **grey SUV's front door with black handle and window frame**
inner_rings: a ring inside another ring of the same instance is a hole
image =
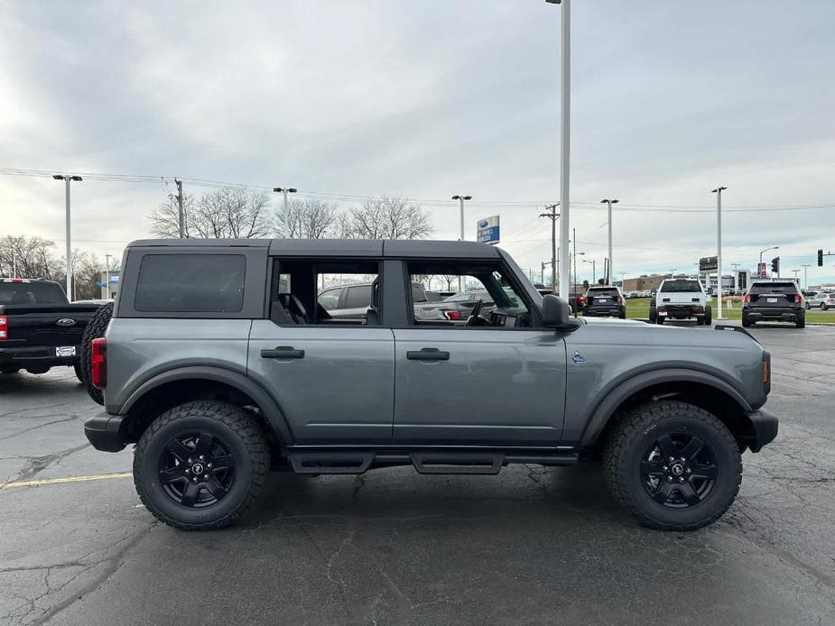
[[[442,275],[472,293],[454,320],[394,328],[394,441],[553,446],[565,409],[565,342],[538,328],[532,296],[495,262],[408,262],[413,280]],[[483,303],[489,300],[489,311]],[[479,303],[479,300],[481,301]],[[441,309],[444,302],[437,303]],[[450,310],[457,306],[449,300]],[[459,310],[456,308],[456,310]]]

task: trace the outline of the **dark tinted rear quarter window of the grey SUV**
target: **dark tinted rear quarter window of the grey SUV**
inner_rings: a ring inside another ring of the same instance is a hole
[[[237,312],[244,305],[242,254],[147,254],[134,308],[178,313]]]

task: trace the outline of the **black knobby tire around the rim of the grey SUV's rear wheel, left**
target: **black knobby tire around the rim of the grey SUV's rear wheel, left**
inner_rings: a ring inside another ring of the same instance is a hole
[[[204,508],[183,506],[159,481],[160,457],[173,437],[208,431],[228,448],[236,464],[228,493]],[[148,511],[175,529],[215,530],[234,524],[255,503],[269,470],[264,433],[246,411],[215,400],[187,402],[168,410],[139,439],[134,454],[134,484]]]

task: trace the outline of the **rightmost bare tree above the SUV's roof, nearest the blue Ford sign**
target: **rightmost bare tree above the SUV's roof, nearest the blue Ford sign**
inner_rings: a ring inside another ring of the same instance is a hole
[[[432,234],[426,209],[404,198],[366,200],[343,216],[341,235],[350,239],[424,239]]]

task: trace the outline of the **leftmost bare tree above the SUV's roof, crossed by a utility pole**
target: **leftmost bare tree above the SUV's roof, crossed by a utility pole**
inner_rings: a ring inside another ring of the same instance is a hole
[[[196,201],[183,198],[185,231],[203,239],[250,239],[272,233],[269,197],[236,187],[213,189]],[[180,213],[176,200],[168,198],[151,214],[151,230],[159,237],[180,236]]]

